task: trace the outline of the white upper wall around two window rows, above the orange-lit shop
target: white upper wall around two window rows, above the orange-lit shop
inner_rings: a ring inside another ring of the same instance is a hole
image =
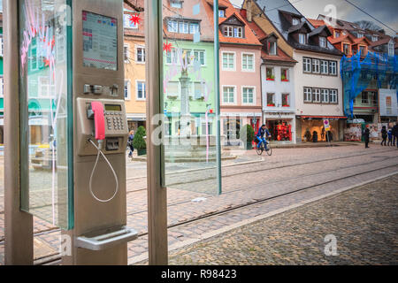
[[[313,57],[337,61],[337,76],[303,73],[302,57]],[[295,106],[296,115],[343,116],[343,93],[340,74],[341,57],[322,53],[294,50],[295,65]],[[338,103],[304,103],[304,87],[338,89]]]

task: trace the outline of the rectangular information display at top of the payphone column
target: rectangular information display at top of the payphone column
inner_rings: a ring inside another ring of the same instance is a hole
[[[118,21],[83,11],[83,65],[118,70]]]

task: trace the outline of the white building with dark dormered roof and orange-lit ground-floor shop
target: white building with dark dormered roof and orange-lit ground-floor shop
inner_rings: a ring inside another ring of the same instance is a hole
[[[287,0],[245,0],[242,8],[264,33],[275,34],[277,47],[297,62],[293,68],[296,142],[312,142],[315,133],[318,141],[326,136],[341,141],[347,119],[342,110],[342,54],[327,39],[331,31],[313,27]],[[332,134],[325,134],[325,120]]]

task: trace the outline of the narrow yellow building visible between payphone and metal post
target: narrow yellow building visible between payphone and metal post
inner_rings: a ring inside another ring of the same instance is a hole
[[[146,126],[144,14],[126,3],[124,13],[126,114],[128,127],[136,130]],[[137,16],[138,23],[133,20]]]

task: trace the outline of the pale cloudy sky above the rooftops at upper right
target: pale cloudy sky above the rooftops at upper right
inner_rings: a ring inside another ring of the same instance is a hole
[[[230,0],[233,4],[241,6],[242,0]],[[371,19],[364,12],[359,11],[356,7],[348,4],[345,0],[288,0],[295,5],[306,18],[317,19],[318,14],[325,14],[325,6],[333,4],[337,9],[337,18],[348,21],[371,20],[379,27],[384,28],[387,34],[395,35],[395,33],[384,27],[380,23]],[[376,19],[384,22],[388,27],[398,31],[398,1],[397,0],[349,0],[364,11],[370,13]]]

